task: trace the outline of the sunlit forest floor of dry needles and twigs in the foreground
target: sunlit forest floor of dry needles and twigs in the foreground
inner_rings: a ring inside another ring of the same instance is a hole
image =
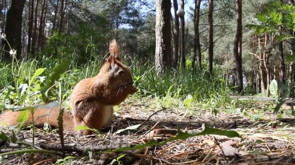
[[[125,102],[117,108],[118,117],[114,117],[111,126],[103,130],[103,134],[91,136],[76,136],[65,134],[65,145],[70,148],[67,157],[58,154],[27,153],[8,155],[1,165],[9,164],[50,164],[59,162],[65,164],[251,164],[251,165],[291,165],[295,163],[295,119],[293,116],[278,118],[271,111],[261,108],[263,115],[260,120],[252,120],[242,112],[235,110],[218,111],[213,117],[209,111],[198,111],[187,115],[185,110],[179,108],[154,108],[150,100]],[[158,113],[152,115],[157,110]],[[252,109],[247,110],[252,113]],[[254,113],[254,112],[253,112]],[[150,117],[150,115],[152,115]],[[148,121],[146,121],[150,117]],[[145,122],[146,121],[146,122]],[[142,124],[138,129],[127,130],[116,134],[118,129],[131,125]],[[175,136],[177,127],[182,131],[201,132],[202,124],[208,124],[223,130],[237,131],[241,138],[228,138],[225,136],[207,135],[187,138],[186,140],[173,140],[163,146],[146,147],[143,150],[98,153],[95,151],[82,151],[94,148],[96,151],[104,150],[105,146],[111,149],[125,145],[138,145],[146,143],[151,134],[156,140],[163,140]],[[119,127],[119,128],[116,128]],[[160,129],[163,128],[163,129]],[[172,130],[170,130],[172,129]],[[3,132],[11,131],[1,128]],[[158,131],[151,131],[158,130]],[[17,138],[24,137],[32,142],[30,129],[20,130]],[[1,142],[0,142],[1,143]],[[57,131],[47,133],[37,129],[35,145],[42,149],[54,150],[60,145]],[[84,147],[83,147],[84,146]],[[74,148],[76,147],[76,148]],[[0,153],[22,150],[23,146],[16,144],[0,144]],[[124,155],[125,154],[125,155]],[[122,155],[122,156],[119,156]],[[63,159],[64,158],[64,159]],[[151,163],[152,162],[152,163]],[[57,164],[57,163],[56,163]]]

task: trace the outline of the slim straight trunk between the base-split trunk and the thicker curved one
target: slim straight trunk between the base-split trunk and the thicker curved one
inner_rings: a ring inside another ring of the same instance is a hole
[[[213,0],[209,0],[209,48],[208,48],[208,76],[213,74]]]

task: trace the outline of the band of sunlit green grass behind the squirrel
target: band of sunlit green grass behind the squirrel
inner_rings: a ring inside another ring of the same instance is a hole
[[[30,59],[28,61],[16,61],[5,64],[0,63],[0,103],[1,108],[10,105],[25,106],[43,103],[41,93],[38,93],[44,86],[46,79],[53,72],[55,66],[63,60],[56,58],[45,58],[40,60]],[[155,75],[154,64],[140,60],[125,61],[130,67],[135,86],[139,91],[133,98],[155,97],[161,99],[163,105],[177,105],[178,101],[192,96],[191,102],[205,101],[209,104],[220,104],[229,101],[227,93],[229,89],[225,86],[222,78],[208,79],[204,75],[199,75],[197,71],[193,73],[190,69],[182,70],[176,74],[168,72],[161,78]],[[65,105],[76,83],[87,77],[94,77],[98,74],[102,65],[102,60],[96,59],[88,61],[83,65],[78,65],[74,58],[71,60],[69,69],[61,76],[62,94]],[[29,84],[35,71],[43,68],[44,72],[36,77],[30,90],[21,92],[21,84]],[[30,93],[27,93],[30,92]],[[37,94],[36,94],[37,93]],[[58,100],[58,89],[52,89],[51,100]],[[187,105],[188,106],[188,105]]]

